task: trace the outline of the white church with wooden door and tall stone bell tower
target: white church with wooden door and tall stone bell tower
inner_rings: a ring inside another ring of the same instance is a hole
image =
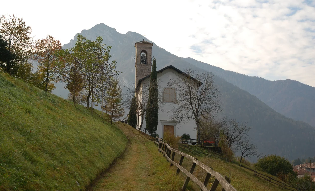
[[[135,43],[135,96],[137,98],[137,128],[139,129],[142,123],[142,128],[146,127],[146,120],[143,116],[145,106],[147,103],[148,87],[150,84],[150,74],[152,66],[152,46],[153,43],[145,40]],[[159,62],[157,60],[157,66]],[[158,68],[158,67],[157,67]],[[181,136],[183,133],[190,135],[191,139],[196,139],[196,122],[190,120],[185,124],[180,124],[177,121],[172,121],[170,116],[174,104],[176,104],[177,92],[175,84],[172,80],[179,78],[180,75],[185,75],[176,67],[169,65],[157,71],[157,82],[159,90],[159,111],[158,111],[158,126],[156,133],[160,138],[163,138],[164,132],[174,134],[174,136]],[[187,75],[185,75],[187,76]]]

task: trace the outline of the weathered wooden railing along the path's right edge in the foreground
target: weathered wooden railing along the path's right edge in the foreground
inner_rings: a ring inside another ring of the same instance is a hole
[[[225,176],[225,178],[224,178],[219,172],[214,171],[210,167],[208,167],[205,164],[203,164],[202,162],[198,161],[198,159],[196,159],[196,158],[194,158],[194,157],[192,157],[186,153],[183,153],[179,150],[171,148],[169,146],[169,144],[163,142],[163,139],[161,139],[159,137],[156,137],[156,140],[154,141],[154,143],[158,145],[158,150],[163,153],[163,155],[166,157],[166,159],[171,163],[171,166],[174,165],[177,167],[177,174],[179,174],[180,171],[182,171],[187,175],[186,180],[185,180],[185,182],[181,188],[182,191],[186,190],[186,187],[187,187],[190,179],[192,179],[192,181],[194,181],[201,188],[202,191],[215,191],[215,189],[218,187],[219,184],[221,184],[221,186],[222,186],[222,191],[237,191],[230,184],[231,180],[228,177]],[[179,164],[177,164],[174,161],[175,153],[180,155]],[[172,154],[172,156],[171,156],[171,154]],[[181,166],[183,164],[184,158],[193,162],[192,167],[190,168],[190,171],[187,171],[185,168],[183,168]],[[202,169],[207,171],[207,176],[206,176],[203,183],[200,180],[198,180],[198,178],[196,178],[194,175],[192,175],[196,165],[200,166]],[[210,190],[208,190],[207,185],[209,183],[209,179],[211,176],[215,177],[215,180],[212,183]]]

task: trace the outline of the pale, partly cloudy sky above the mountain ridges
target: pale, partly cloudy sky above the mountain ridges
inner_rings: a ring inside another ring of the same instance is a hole
[[[315,2],[3,1],[0,14],[23,17],[36,39],[68,43],[83,29],[105,23],[146,38],[180,57],[269,80],[315,87]]]

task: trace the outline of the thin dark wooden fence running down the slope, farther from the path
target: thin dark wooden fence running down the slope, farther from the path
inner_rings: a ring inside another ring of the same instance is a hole
[[[203,152],[198,152],[198,151],[192,150],[191,148],[189,148],[189,147],[187,147],[187,146],[185,146],[185,145],[182,145],[182,146],[184,146],[185,148],[190,149],[190,150],[191,150],[190,152],[192,152],[192,153],[194,153],[194,154],[197,154],[197,155],[199,155],[199,156],[200,156],[199,153],[202,153],[202,154],[205,154],[205,155],[210,155],[210,154],[208,154],[208,153],[203,153]],[[196,153],[196,152],[198,152],[198,153]],[[218,156],[215,156],[215,158],[219,158],[219,159],[222,159],[222,160],[226,160],[226,161],[227,161],[226,158],[222,158],[222,157],[218,157]],[[243,166],[242,164],[238,164],[238,163],[235,163],[235,162],[233,162],[233,161],[231,161],[231,163],[236,164],[236,165],[238,165],[239,167],[243,167],[243,168],[246,168],[246,169],[248,169],[248,170],[250,170],[250,171],[253,171],[255,176],[261,177],[261,178],[263,178],[264,180],[266,180],[266,181],[268,181],[268,182],[270,182],[270,183],[276,184],[276,185],[278,185],[279,187],[282,187],[282,188],[284,188],[284,189],[286,189],[286,190],[292,190],[292,191],[297,190],[297,188],[292,187],[292,186],[289,186],[287,183],[285,183],[285,182],[283,182],[283,181],[280,182],[280,181],[278,181],[278,180],[275,180],[274,178],[269,177],[269,176],[264,175],[264,174],[261,174],[261,173],[257,172],[256,170],[247,168],[247,167]],[[293,188],[293,189],[292,189],[292,188]]]

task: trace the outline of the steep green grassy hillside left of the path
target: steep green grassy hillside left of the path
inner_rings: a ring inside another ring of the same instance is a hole
[[[0,73],[0,190],[85,189],[126,143],[98,114]]]

